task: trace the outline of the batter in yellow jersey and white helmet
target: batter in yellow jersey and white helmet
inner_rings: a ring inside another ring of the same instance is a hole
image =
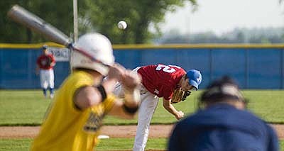
[[[138,110],[140,94],[136,93],[136,87],[140,78],[114,64],[109,39],[89,33],[82,35],[75,47],[92,55],[97,62],[72,51],[72,74],[56,92],[31,150],[94,150],[104,116],[133,118]],[[107,75],[109,78],[102,82]],[[126,89],[123,101],[111,94],[116,82]]]

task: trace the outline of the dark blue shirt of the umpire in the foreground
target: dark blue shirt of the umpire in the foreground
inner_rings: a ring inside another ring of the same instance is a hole
[[[170,151],[275,151],[274,130],[249,111],[216,104],[198,111],[175,125]]]

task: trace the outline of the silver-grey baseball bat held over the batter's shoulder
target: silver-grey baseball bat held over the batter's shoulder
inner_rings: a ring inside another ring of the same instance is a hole
[[[99,60],[95,59],[92,55],[89,55],[88,52],[80,49],[79,47],[75,47],[72,43],[72,40],[67,35],[62,33],[60,30],[53,27],[49,23],[43,21],[43,19],[41,19],[40,17],[35,16],[35,14],[27,11],[26,9],[23,9],[23,7],[14,5],[8,11],[7,15],[13,21],[16,21],[17,23],[20,23],[23,26],[26,26],[27,28],[34,30],[36,33],[44,35],[45,38],[48,38],[49,40],[58,43],[60,45],[65,45],[71,50],[80,52],[82,55],[89,57],[89,59],[91,59],[94,62],[102,63]],[[102,64],[105,65],[104,63]]]

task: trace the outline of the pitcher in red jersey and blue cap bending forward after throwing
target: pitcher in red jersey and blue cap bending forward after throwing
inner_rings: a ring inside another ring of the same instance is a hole
[[[198,89],[202,82],[202,75],[200,71],[195,69],[185,72],[181,67],[162,64],[137,67],[133,69],[133,72],[140,74],[142,78],[140,87],[141,106],[138,111],[138,125],[133,145],[134,151],[140,151],[146,147],[149,126],[159,98],[163,98],[163,107],[179,120],[184,116],[184,113],[177,111],[172,105],[178,103],[178,101],[173,100],[174,91],[178,89],[187,91],[188,96],[192,89]],[[124,97],[123,91],[123,86],[117,84],[114,94]]]

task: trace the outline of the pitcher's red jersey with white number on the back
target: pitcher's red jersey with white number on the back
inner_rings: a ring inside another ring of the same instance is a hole
[[[138,73],[141,74],[142,84],[148,91],[169,100],[186,72],[175,65],[159,64],[141,67]]]

